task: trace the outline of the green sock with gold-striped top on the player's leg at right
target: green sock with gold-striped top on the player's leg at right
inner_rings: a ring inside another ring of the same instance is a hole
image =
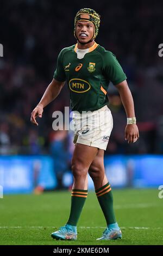
[[[96,190],[96,196],[105,216],[107,225],[115,223],[116,218],[113,210],[113,197],[109,182]]]

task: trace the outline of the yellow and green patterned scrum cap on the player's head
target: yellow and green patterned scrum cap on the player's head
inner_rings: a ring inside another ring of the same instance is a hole
[[[76,39],[77,39],[76,28],[77,28],[78,21],[89,21],[92,23],[94,27],[94,35],[92,40],[95,39],[98,34],[100,15],[96,13],[96,11],[93,9],[89,9],[89,8],[80,9],[74,19],[74,36],[76,37]]]

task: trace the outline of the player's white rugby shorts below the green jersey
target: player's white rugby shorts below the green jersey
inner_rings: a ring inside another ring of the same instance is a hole
[[[108,106],[105,105],[92,112],[74,111],[72,120],[74,144],[80,143],[106,150],[113,126],[112,114]]]

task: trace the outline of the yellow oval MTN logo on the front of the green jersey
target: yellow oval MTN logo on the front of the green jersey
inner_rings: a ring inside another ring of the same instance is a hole
[[[91,84],[82,79],[73,78],[68,83],[70,90],[75,93],[86,93],[91,88]]]

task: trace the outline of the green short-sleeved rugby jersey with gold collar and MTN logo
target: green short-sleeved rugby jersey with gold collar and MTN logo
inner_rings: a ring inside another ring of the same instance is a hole
[[[109,82],[116,85],[127,77],[115,55],[96,42],[83,59],[76,50],[77,44],[61,50],[54,78],[67,81],[72,111],[95,111],[108,105]]]

